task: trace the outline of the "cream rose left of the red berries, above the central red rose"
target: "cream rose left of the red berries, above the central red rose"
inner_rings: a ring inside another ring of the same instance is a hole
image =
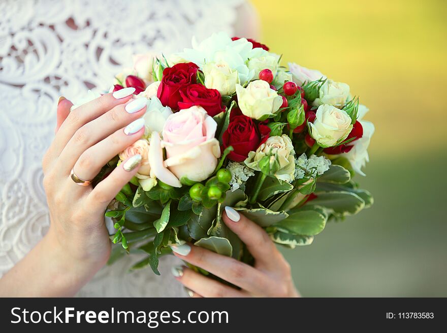
[[[236,94],[242,113],[261,121],[274,116],[282,105],[282,97],[263,80],[252,81],[246,88],[237,84]]]

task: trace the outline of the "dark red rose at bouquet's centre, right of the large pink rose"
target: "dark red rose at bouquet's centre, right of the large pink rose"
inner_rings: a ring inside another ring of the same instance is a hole
[[[228,159],[242,162],[250,151],[256,151],[267,141],[269,134],[270,128],[265,123],[256,124],[250,117],[236,116],[222,134],[222,147],[226,149],[230,145],[233,146],[234,150],[228,154]]]

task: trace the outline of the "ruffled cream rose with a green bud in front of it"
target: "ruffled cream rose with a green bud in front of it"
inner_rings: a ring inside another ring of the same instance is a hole
[[[244,163],[251,169],[261,171],[259,161],[265,156],[276,156],[279,165],[275,177],[292,182],[295,174],[295,151],[292,140],[289,136],[271,136],[267,141],[261,144],[256,152],[249,152]]]

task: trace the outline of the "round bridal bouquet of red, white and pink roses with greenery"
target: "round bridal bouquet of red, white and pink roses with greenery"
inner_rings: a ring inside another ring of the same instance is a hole
[[[115,247],[150,266],[170,246],[194,243],[251,263],[222,222],[234,207],[286,247],[311,244],[331,219],[372,204],[355,173],[368,161],[374,126],[349,86],[245,38],[214,34],[172,55],[139,55],[111,91],[147,98],[145,134],[110,161],[140,154],[141,167],[110,203]],[[94,183],[93,183],[94,185]]]

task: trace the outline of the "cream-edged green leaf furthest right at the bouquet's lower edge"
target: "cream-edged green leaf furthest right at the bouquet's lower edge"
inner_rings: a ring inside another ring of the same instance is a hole
[[[310,206],[323,206],[338,217],[357,214],[365,207],[361,197],[348,191],[315,192],[315,195],[308,203]]]

